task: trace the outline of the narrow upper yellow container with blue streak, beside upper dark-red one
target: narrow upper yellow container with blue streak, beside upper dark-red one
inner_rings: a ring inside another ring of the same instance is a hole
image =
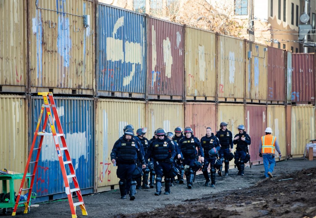
[[[266,103],[268,87],[268,47],[246,43],[246,102]],[[284,77],[283,77],[284,78]]]

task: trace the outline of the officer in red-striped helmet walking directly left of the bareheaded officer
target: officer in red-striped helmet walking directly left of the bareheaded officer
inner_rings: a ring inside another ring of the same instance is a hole
[[[185,165],[185,176],[187,182],[187,188],[191,189],[193,185],[194,174],[198,168],[200,162],[197,161],[198,155],[201,155],[201,161],[204,162],[204,152],[201,149],[201,143],[197,137],[193,135],[193,130],[190,127],[184,129],[185,137],[179,140],[178,143],[178,158],[181,158],[183,154]],[[197,148],[197,150],[196,150]]]

